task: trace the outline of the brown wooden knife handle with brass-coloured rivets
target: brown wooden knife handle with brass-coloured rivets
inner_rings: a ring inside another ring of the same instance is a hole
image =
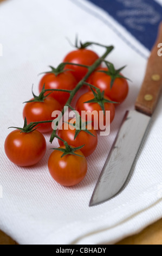
[[[161,56],[160,56],[161,55]],[[162,22],[159,25],[158,37],[148,58],[146,74],[139,95],[135,101],[135,109],[152,115],[157,105],[162,84]]]

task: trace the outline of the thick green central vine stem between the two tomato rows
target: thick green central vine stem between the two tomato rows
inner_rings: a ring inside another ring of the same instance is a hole
[[[96,45],[100,45],[100,44],[97,44],[95,43]],[[100,46],[103,46],[103,45],[100,45]],[[67,100],[66,104],[64,106],[68,106],[70,105],[70,103],[72,102],[73,100],[73,97],[74,95],[76,94],[76,92],[83,86],[83,84],[86,82],[87,78],[90,76],[90,74],[92,74],[92,72],[98,68],[98,66],[101,64],[101,62],[103,61],[103,59],[105,59],[107,57],[107,55],[113,50],[114,46],[104,46],[106,47],[106,52],[101,56],[101,58],[97,59],[95,61],[95,63],[92,65],[92,66],[88,66],[88,72],[87,74],[85,75],[85,77],[82,78],[82,80],[77,83],[76,87],[72,90],[72,92],[70,92],[70,96],[69,96],[69,99]],[[72,63],[70,63],[72,65]],[[59,115],[59,117],[57,117],[56,119],[54,119],[54,122],[58,122],[61,120],[61,117],[63,116],[64,114],[64,108],[62,109],[62,112],[61,114]],[[53,142],[54,138],[56,137],[56,130],[53,130],[53,132],[51,133],[51,136],[50,136],[50,143]]]

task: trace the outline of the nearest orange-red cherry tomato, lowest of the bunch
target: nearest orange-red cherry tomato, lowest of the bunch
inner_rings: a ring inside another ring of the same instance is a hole
[[[64,146],[60,148],[65,148]],[[74,186],[78,184],[87,173],[86,157],[80,150],[75,151],[76,155],[62,156],[62,152],[54,150],[48,160],[48,169],[51,176],[63,186]]]

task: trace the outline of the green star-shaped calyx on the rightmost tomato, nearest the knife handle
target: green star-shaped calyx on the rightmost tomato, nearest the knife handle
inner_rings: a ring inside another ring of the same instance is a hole
[[[104,60],[104,62],[106,64],[108,70],[107,71],[106,70],[98,70],[96,72],[102,72],[111,77],[111,84],[110,84],[111,89],[113,87],[113,83],[116,78],[124,78],[126,80],[129,80],[129,78],[122,76],[120,74],[120,71],[123,70],[126,66],[122,66],[120,69],[115,69],[113,63],[108,62],[107,60]]]

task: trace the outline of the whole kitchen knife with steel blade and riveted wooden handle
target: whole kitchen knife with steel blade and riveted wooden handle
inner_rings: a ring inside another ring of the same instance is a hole
[[[135,109],[125,113],[94,188],[89,206],[106,202],[118,195],[125,187],[132,172],[134,161],[144,141],[160,96],[162,84],[162,56],[158,54],[160,43],[162,43],[162,22],[159,25],[157,40],[148,58],[144,81],[135,101]]]

